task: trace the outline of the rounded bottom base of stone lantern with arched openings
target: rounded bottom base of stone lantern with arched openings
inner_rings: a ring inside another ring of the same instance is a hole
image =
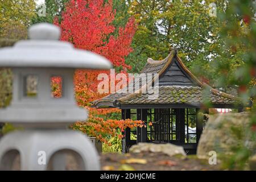
[[[0,170],[11,169],[100,170],[100,162],[92,142],[77,131],[24,130],[0,141]]]

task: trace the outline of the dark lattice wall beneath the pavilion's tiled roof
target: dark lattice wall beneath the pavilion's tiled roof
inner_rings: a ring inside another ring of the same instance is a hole
[[[139,142],[153,142],[174,143],[183,146],[186,152],[195,154],[202,130],[200,125],[197,126],[197,111],[195,108],[123,110],[123,118],[142,119],[147,126],[126,129],[123,151],[127,152]]]

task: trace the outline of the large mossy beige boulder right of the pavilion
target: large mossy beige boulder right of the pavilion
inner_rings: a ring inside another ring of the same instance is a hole
[[[249,122],[249,113],[246,112],[210,115],[197,146],[197,157],[209,159],[210,151],[216,151],[217,156],[232,154],[230,148],[239,143],[252,150],[255,144],[246,131]]]

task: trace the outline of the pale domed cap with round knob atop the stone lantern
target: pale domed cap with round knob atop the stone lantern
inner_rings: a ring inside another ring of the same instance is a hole
[[[34,24],[28,29],[29,40],[0,49],[0,67],[112,68],[105,57],[60,41],[60,32],[53,24]]]

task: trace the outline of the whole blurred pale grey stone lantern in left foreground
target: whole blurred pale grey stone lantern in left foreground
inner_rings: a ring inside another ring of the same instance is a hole
[[[87,118],[74,98],[75,69],[112,65],[100,55],[60,42],[60,28],[52,24],[35,24],[28,36],[30,40],[0,49],[0,67],[13,71],[13,100],[0,109],[0,122],[22,127],[1,139],[0,169],[18,163],[21,170],[65,170],[69,159],[75,169],[100,169],[92,142],[67,126]],[[61,81],[60,98],[51,93],[54,77]]]

